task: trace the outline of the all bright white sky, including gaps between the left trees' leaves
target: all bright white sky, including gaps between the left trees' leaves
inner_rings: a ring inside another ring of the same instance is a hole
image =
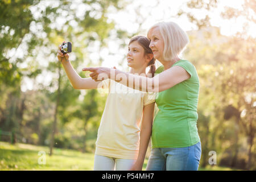
[[[221,18],[220,13],[224,11],[225,6],[234,7],[236,9],[240,9],[243,4],[243,0],[223,0],[218,1],[218,8],[214,9],[214,11],[203,11],[203,10],[189,10],[185,3],[188,0],[180,0],[180,1],[170,1],[170,0],[126,0],[127,2],[131,2],[130,5],[126,7],[125,10],[116,12],[114,9],[110,7],[110,13],[108,15],[109,20],[114,20],[116,23],[116,28],[121,28],[122,30],[126,30],[130,33],[136,32],[138,30],[138,24],[141,23],[142,33],[141,35],[146,35],[148,28],[150,28],[153,24],[160,21],[174,21],[180,25],[185,31],[196,30],[196,26],[190,23],[186,16],[181,16],[179,19],[175,17],[177,12],[182,9],[183,11],[189,11],[196,15],[197,18],[204,18],[205,15],[209,15],[211,18],[212,26],[220,27],[222,35],[234,35],[238,31],[243,30],[243,23],[246,22],[245,19],[237,19],[237,20],[225,20]],[[205,0],[207,1],[207,0]],[[52,1],[47,1],[51,3]],[[54,1],[53,1],[54,2]],[[71,9],[77,9],[77,15],[82,16],[84,12],[89,7],[86,5],[79,5],[81,0],[74,0],[75,4],[71,7]],[[56,3],[53,3],[57,6]],[[97,7],[96,7],[97,8]],[[138,16],[137,13],[140,15]],[[61,23],[61,21],[59,21]],[[72,24],[72,22],[71,22]],[[75,25],[75,23],[74,23]],[[253,24],[248,30],[248,34],[255,36],[254,31],[256,30],[255,24]],[[44,35],[42,35],[44,36]],[[112,35],[109,39],[108,48],[104,48],[101,52],[98,52],[98,45],[92,47],[92,53],[90,53],[89,57],[92,60],[95,60],[97,63],[98,59],[104,57],[104,62],[102,66],[104,67],[117,67],[119,69],[127,70],[126,60],[123,60],[124,55],[126,55],[127,49],[120,49],[118,46],[118,39],[115,38],[115,35]],[[128,42],[127,42],[128,43]],[[17,52],[16,54],[19,55]],[[20,52],[22,54],[22,52]],[[53,58],[54,59],[54,58]],[[72,56],[71,56],[72,60]],[[119,66],[118,63],[123,63],[122,66]],[[26,67],[26,65],[23,65]],[[86,67],[86,63],[82,64],[77,71],[81,71],[82,68]],[[52,74],[45,73],[43,76],[39,76],[36,81],[46,83],[48,85],[51,82]],[[24,78],[22,84],[22,91],[27,89],[33,89],[33,82],[28,78]]]

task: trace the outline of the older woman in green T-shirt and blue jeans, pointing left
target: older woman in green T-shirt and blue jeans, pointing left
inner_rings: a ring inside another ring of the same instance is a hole
[[[154,58],[163,64],[156,70],[159,74],[155,77],[102,67],[83,70],[93,72],[90,76],[94,80],[104,73],[131,88],[158,92],[159,112],[152,126],[152,150],[147,170],[197,170],[201,158],[196,126],[199,77],[192,63],[180,59],[189,42],[188,36],[176,23],[160,22],[150,28],[147,37]]]

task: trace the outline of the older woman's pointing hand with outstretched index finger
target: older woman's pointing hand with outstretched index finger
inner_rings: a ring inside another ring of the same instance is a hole
[[[90,77],[94,81],[102,81],[107,78],[110,78],[110,68],[97,67],[97,68],[82,68],[82,71],[90,71]]]

